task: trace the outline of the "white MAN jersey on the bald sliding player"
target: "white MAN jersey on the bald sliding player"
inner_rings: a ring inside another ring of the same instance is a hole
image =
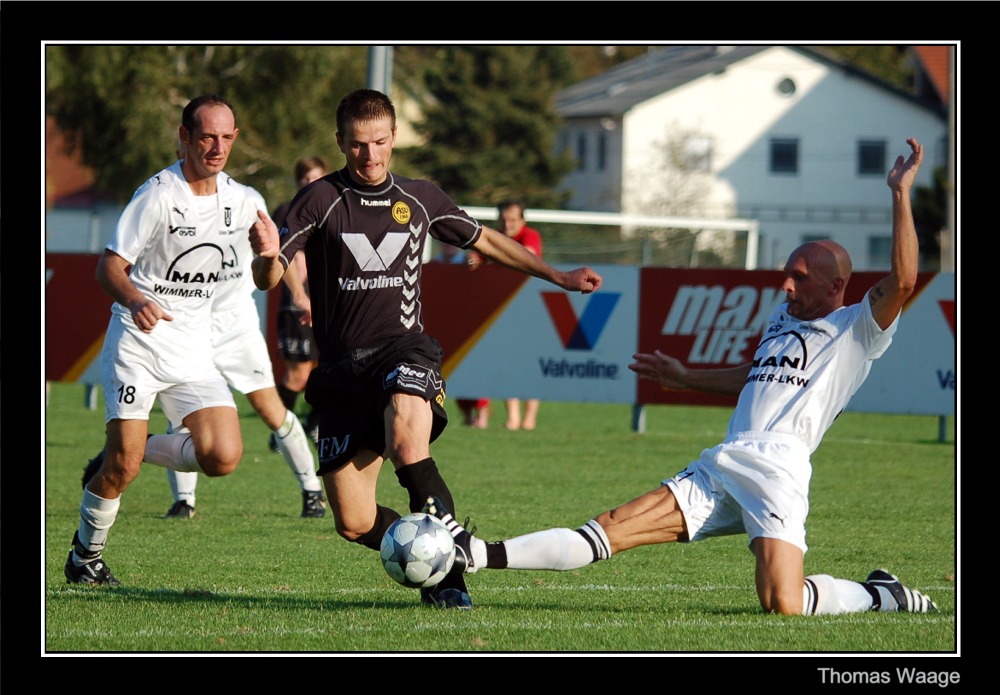
[[[867,294],[815,321],[793,318],[787,307],[782,304],[768,319],[728,435],[788,434],[812,453],[868,378],[872,361],[889,347],[899,317],[883,331]]]

